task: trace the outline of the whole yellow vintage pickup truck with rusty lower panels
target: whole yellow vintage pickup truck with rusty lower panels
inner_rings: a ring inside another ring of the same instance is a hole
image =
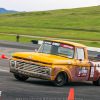
[[[93,81],[100,85],[100,62],[88,59],[82,44],[44,40],[37,52],[18,52],[10,58],[10,72],[18,80],[29,77],[49,80],[56,86],[66,82]]]

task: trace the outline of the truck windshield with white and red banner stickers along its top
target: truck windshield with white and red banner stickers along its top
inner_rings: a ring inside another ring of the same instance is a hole
[[[44,41],[38,52],[73,58],[75,47],[69,44]]]

